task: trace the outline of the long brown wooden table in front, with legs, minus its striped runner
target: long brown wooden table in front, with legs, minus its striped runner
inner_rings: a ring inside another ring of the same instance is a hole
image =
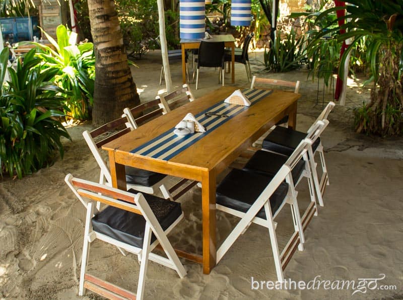
[[[109,153],[112,185],[126,189],[124,166],[164,173],[201,182],[203,211],[203,257],[186,254],[183,257],[203,263],[203,272],[209,274],[216,264],[216,178],[241,153],[270,127],[289,115],[289,126],[295,128],[297,99],[300,94],[274,90],[272,94],[248,107],[197,140],[168,161],[132,154],[130,151],[152,138],[173,130],[174,126],[191,112],[196,115],[227,98],[236,87],[222,87],[189,102],[168,114],[158,117],[102,148]],[[181,255],[182,253],[178,254]]]

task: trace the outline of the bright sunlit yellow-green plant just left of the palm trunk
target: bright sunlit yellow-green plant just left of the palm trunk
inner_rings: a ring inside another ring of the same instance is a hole
[[[89,107],[93,105],[94,96],[94,45],[89,42],[77,45],[77,33],[63,25],[57,26],[57,42],[43,30],[42,32],[55,50],[36,43],[43,49],[36,56],[44,61],[43,67],[58,69],[54,81],[60,88],[73,92],[65,95],[65,106],[68,108],[65,113],[75,119],[89,119]]]

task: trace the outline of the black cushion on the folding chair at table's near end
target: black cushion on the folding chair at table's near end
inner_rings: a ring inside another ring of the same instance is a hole
[[[137,193],[130,189],[129,192]],[[182,214],[180,203],[143,194],[165,231]],[[108,206],[92,218],[94,231],[131,246],[143,248],[146,219],[137,213]],[[156,240],[154,234],[151,243]]]

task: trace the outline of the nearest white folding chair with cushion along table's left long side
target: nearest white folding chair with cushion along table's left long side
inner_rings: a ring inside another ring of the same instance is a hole
[[[126,127],[128,126],[128,127]],[[123,129],[121,129],[123,128]],[[122,136],[123,134],[134,130],[131,122],[126,116],[104,124],[92,131],[85,130],[83,136],[91,150],[92,155],[101,168],[99,183],[112,185],[112,177],[109,168],[102,158],[100,149],[102,145]],[[97,141],[95,141],[97,139]],[[161,190],[165,199],[173,200],[168,189],[165,187],[167,176],[156,172],[142,170],[138,168],[125,167],[127,189],[135,189],[139,192],[154,194]]]

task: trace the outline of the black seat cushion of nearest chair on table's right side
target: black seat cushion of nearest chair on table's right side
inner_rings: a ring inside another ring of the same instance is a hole
[[[217,204],[246,212],[273,177],[254,172],[233,169],[217,186]],[[287,195],[288,184],[283,182],[270,197],[270,207],[274,214]],[[266,218],[262,207],[256,216]]]

